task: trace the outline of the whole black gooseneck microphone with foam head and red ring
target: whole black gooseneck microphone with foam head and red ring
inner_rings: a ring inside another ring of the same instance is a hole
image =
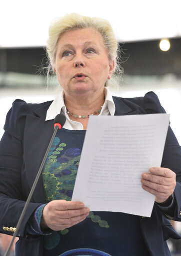
[[[29,195],[28,195],[28,197],[27,197],[27,200],[26,200],[26,202],[25,202],[25,204],[24,204],[23,210],[22,210],[22,212],[21,212],[21,215],[20,215],[19,220],[18,220],[17,225],[16,225],[16,230],[14,231],[14,234],[13,234],[13,236],[12,236],[12,240],[11,240],[11,242],[10,242],[10,244],[9,244],[9,246],[8,246],[8,248],[7,248],[6,252],[5,252],[5,254],[4,254],[4,256],[8,256],[9,253],[10,253],[10,249],[11,249],[11,247],[12,247],[13,241],[14,241],[14,239],[15,239],[15,237],[16,237],[16,234],[17,234],[17,232],[18,232],[18,230],[19,230],[19,226],[20,226],[20,224],[21,224],[21,222],[22,222],[22,219],[23,219],[24,214],[25,214],[25,212],[26,212],[26,209],[27,209],[27,206],[28,206],[29,201],[30,201],[30,199],[31,199],[31,196],[32,196],[32,194],[33,194],[33,192],[34,192],[35,186],[36,186],[36,184],[37,184],[37,181],[38,181],[39,176],[40,176],[40,174],[41,174],[42,168],[43,168],[43,166],[44,166],[44,163],[45,163],[47,154],[48,154],[49,149],[50,149],[50,147],[51,147],[51,145],[52,145],[52,143],[53,143],[53,139],[54,139],[54,137],[55,137],[55,135],[56,135],[57,130],[58,130],[58,129],[61,129],[61,127],[64,125],[65,121],[66,121],[66,118],[65,118],[65,116],[64,116],[63,114],[58,114],[58,115],[56,115],[56,117],[55,117],[55,119],[54,119],[54,132],[53,132],[53,135],[52,135],[51,140],[50,140],[50,142],[49,142],[49,145],[48,145],[48,147],[47,147],[47,149],[46,149],[46,153],[45,153],[45,155],[44,155],[44,157],[43,157],[43,160],[42,160],[42,162],[41,162],[41,165],[40,165],[40,167],[39,167],[39,170],[38,170],[38,172],[37,172],[37,174],[36,174],[36,178],[35,178],[35,180],[34,180],[34,183],[33,183],[32,187],[31,187],[31,190],[30,190],[30,192],[29,192]]]

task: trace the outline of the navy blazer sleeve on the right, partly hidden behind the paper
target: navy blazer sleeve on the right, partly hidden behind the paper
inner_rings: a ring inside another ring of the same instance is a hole
[[[148,114],[165,113],[165,110],[160,105],[158,97],[153,92],[148,92],[145,94],[144,108]],[[168,218],[181,221],[181,147],[179,146],[170,126],[168,127],[167,131],[161,167],[169,168],[176,173],[176,187],[174,189],[175,207],[173,208],[171,215],[166,211],[163,212]]]

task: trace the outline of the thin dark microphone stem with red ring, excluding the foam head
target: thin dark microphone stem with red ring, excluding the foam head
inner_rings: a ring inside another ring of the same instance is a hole
[[[55,125],[56,125],[56,126],[55,126]],[[54,139],[54,137],[55,137],[55,135],[56,135],[57,130],[61,128],[61,127],[59,127],[59,124],[54,124],[54,126],[55,126],[55,127],[54,127],[53,135],[52,135],[51,140],[50,140],[50,142],[49,142],[49,145],[48,145],[48,147],[47,147],[47,149],[46,149],[46,153],[45,153],[45,155],[44,155],[44,157],[43,157],[43,160],[42,160],[41,165],[40,165],[40,167],[39,167],[39,170],[38,170],[38,172],[37,172],[36,178],[35,178],[35,180],[34,180],[34,183],[33,183],[32,187],[31,187],[31,190],[30,190],[30,192],[29,192],[29,195],[28,195],[28,197],[27,197],[27,200],[26,200],[26,202],[25,202],[25,204],[24,204],[23,210],[22,210],[22,212],[21,212],[21,215],[20,215],[19,220],[18,220],[17,225],[16,225],[16,230],[15,230],[13,236],[12,236],[12,240],[11,240],[11,242],[10,242],[10,244],[9,244],[9,246],[8,246],[8,248],[7,248],[6,252],[5,252],[5,254],[4,254],[4,256],[8,256],[9,253],[10,253],[10,249],[11,249],[11,247],[12,247],[13,241],[14,241],[14,239],[15,239],[15,237],[16,237],[16,234],[17,234],[17,232],[18,232],[18,230],[19,230],[19,226],[20,226],[20,224],[21,224],[21,222],[22,222],[22,219],[23,219],[24,214],[25,214],[25,212],[26,212],[26,209],[27,209],[27,206],[28,206],[29,201],[30,201],[30,199],[31,199],[31,196],[32,196],[32,194],[33,194],[33,192],[34,192],[35,186],[36,186],[36,184],[37,184],[37,181],[38,181],[39,176],[40,176],[40,174],[41,174],[42,168],[43,168],[43,166],[44,166],[44,163],[45,163],[47,154],[48,154],[49,149],[50,149],[50,147],[51,147],[51,145],[52,145],[52,143],[53,143],[53,139]],[[61,126],[61,125],[60,125],[60,126]]]

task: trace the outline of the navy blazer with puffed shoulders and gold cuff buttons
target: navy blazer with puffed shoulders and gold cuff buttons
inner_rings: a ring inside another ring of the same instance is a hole
[[[153,92],[144,97],[113,97],[115,115],[164,113]],[[15,100],[6,116],[4,135],[0,141],[0,232],[12,234],[27,199],[30,188],[53,133],[53,120],[45,121],[46,111],[52,101],[27,104]],[[168,256],[166,239],[180,236],[167,218],[181,220],[181,148],[168,128],[162,167],[176,173],[174,208],[171,212],[154,204],[151,217],[139,217],[141,231],[150,255]],[[44,203],[44,190],[40,176],[28,205],[16,243],[17,256],[42,256],[43,235],[29,235],[26,224],[37,206]],[[3,228],[5,227],[5,228]],[[7,228],[8,227],[8,228]],[[8,230],[8,231],[6,231]]]

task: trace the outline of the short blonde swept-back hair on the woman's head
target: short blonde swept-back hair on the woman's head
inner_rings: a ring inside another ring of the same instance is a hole
[[[101,18],[90,18],[72,13],[66,14],[64,17],[54,19],[49,26],[49,38],[46,43],[46,53],[48,57],[48,75],[50,72],[53,72],[56,48],[59,38],[67,31],[84,28],[92,28],[100,33],[108,54],[108,58],[109,60],[113,60],[115,63],[114,71],[117,71],[119,74],[122,72],[122,69],[118,65],[119,45],[115,39],[113,30],[109,22]],[[110,81],[108,83],[110,83]]]

